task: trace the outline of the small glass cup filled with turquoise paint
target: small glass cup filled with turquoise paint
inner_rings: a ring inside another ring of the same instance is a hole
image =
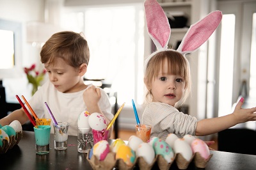
[[[44,155],[49,153],[51,126],[38,125],[37,127],[38,128],[34,127],[36,154]]]

